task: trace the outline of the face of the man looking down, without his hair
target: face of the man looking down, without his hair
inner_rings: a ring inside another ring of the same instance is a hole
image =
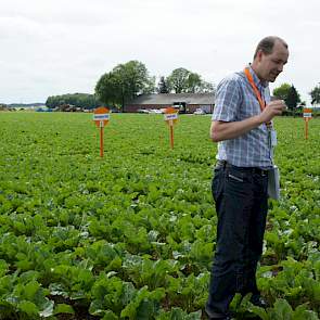
[[[277,77],[283,71],[289,57],[287,49],[280,41],[276,41],[272,53],[265,54],[258,52],[258,65],[260,78],[265,81],[274,82]]]

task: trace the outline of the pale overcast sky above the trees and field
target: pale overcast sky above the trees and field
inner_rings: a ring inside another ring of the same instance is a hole
[[[156,77],[184,67],[217,85],[269,35],[290,49],[271,89],[293,84],[309,102],[320,82],[319,12],[319,0],[1,0],[0,102],[93,93],[130,60]]]

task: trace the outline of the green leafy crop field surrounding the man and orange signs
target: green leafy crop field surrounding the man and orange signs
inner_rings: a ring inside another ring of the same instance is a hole
[[[0,319],[205,319],[216,214],[209,116],[0,113]],[[278,118],[258,285],[236,319],[319,319],[320,119]]]

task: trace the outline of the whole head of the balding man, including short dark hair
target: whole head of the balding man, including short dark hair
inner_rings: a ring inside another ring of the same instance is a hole
[[[266,37],[257,46],[253,69],[260,80],[274,82],[289,57],[287,44],[279,37]]]

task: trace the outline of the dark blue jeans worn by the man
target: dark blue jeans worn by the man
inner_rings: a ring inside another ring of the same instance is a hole
[[[235,293],[259,295],[256,269],[266,228],[268,175],[223,163],[215,169],[212,191],[218,226],[206,305],[209,316],[227,313]]]

